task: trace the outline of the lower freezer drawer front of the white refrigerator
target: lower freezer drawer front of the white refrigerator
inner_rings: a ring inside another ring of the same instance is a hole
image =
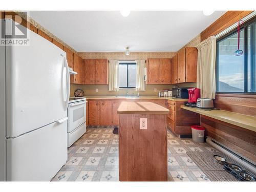
[[[66,119],[7,139],[7,181],[50,181],[67,159]]]

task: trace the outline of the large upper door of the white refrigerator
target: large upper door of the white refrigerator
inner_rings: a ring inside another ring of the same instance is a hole
[[[6,47],[7,137],[67,116],[66,53],[32,31],[29,44]]]

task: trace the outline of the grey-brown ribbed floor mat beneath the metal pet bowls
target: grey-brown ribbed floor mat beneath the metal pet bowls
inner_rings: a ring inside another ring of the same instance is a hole
[[[217,163],[214,159],[214,155],[219,155],[225,157],[228,163],[235,163],[225,155],[219,152],[187,152],[187,155],[211,181],[238,181],[224,169],[222,164]]]

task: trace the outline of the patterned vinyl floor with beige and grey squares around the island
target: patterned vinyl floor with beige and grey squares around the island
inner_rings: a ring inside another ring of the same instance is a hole
[[[68,148],[68,161],[52,181],[118,181],[118,135],[113,127],[87,128]],[[217,151],[168,131],[168,181],[209,181],[187,151]],[[157,162],[156,162],[157,163]]]

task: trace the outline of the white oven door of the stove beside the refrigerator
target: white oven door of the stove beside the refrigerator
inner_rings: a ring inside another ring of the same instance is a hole
[[[86,122],[86,103],[87,101],[80,101],[69,104],[68,133],[72,132],[82,123]]]

